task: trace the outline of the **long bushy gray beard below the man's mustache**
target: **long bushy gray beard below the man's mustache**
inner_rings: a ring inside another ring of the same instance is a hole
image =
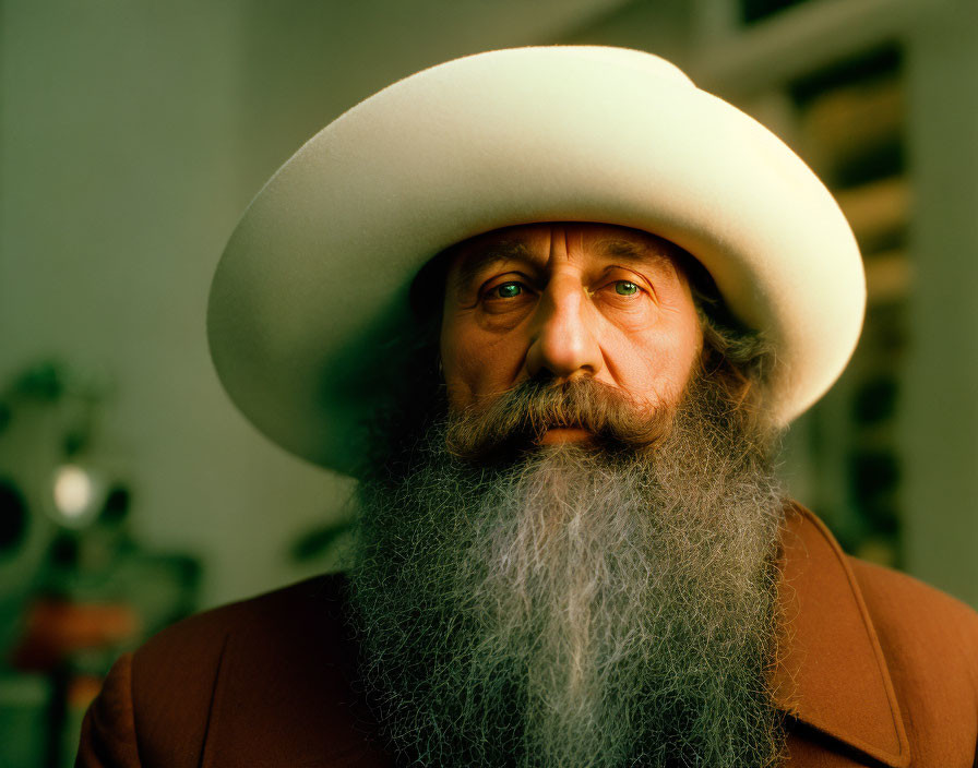
[[[406,764],[777,764],[782,502],[708,408],[654,451],[491,468],[449,455],[441,424],[396,480],[361,482],[353,599]]]

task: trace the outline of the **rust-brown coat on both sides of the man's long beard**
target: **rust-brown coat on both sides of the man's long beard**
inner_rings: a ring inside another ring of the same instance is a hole
[[[804,509],[783,541],[787,765],[978,765],[978,614],[846,556]],[[323,577],[208,611],[123,656],[85,717],[76,765],[393,765],[350,684],[342,585]]]

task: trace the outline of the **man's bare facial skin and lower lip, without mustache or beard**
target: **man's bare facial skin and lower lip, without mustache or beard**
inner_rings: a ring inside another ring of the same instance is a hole
[[[601,224],[496,230],[456,247],[441,357],[453,411],[530,379],[593,377],[642,411],[675,406],[703,336],[678,249]],[[549,429],[544,443],[586,431]]]

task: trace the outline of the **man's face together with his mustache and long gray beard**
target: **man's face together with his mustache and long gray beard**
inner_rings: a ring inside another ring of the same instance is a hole
[[[779,491],[672,248],[547,224],[450,254],[448,387],[403,345],[358,487],[363,672],[405,763],[773,765]]]

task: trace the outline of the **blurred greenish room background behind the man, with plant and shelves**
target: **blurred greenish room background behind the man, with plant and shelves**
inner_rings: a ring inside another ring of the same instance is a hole
[[[0,0],[0,766],[71,765],[148,634],[337,567],[348,482],[212,371],[224,241],[360,99],[549,43],[673,59],[836,192],[866,331],[786,482],[849,552],[978,605],[978,3]]]

